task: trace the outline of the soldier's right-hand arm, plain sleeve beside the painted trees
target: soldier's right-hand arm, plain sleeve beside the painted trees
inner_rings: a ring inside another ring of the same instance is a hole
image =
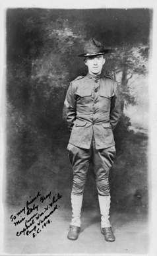
[[[110,123],[111,129],[115,129],[117,122],[119,121],[120,113],[121,113],[121,105],[119,98],[119,89],[117,86],[117,82],[113,82],[113,92],[114,95],[111,97],[111,110],[110,110]]]

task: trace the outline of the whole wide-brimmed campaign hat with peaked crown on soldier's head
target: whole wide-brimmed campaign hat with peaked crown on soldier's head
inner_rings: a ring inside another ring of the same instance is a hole
[[[104,46],[100,42],[94,38],[90,38],[90,40],[84,46],[84,53],[77,55],[77,57],[89,57],[110,52],[111,49],[104,49]]]

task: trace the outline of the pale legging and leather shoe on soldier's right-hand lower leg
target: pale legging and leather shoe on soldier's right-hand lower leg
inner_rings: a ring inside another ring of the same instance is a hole
[[[98,195],[99,205],[100,205],[100,213],[101,213],[101,231],[104,234],[104,239],[106,241],[115,241],[115,236],[111,231],[111,224],[110,224],[110,202],[111,197]]]

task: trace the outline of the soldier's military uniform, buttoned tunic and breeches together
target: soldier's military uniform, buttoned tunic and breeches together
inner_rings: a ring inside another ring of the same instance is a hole
[[[112,131],[119,119],[119,107],[117,82],[114,80],[87,74],[71,82],[65,112],[71,131],[67,148],[74,172],[73,194],[82,195],[91,160],[98,194],[109,195],[108,174],[115,156]]]

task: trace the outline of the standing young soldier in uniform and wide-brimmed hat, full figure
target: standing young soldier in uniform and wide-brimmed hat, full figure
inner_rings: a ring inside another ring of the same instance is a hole
[[[80,232],[80,212],[89,162],[94,166],[96,187],[101,213],[101,231],[106,241],[115,241],[109,221],[109,172],[115,158],[113,129],[120,115],[117,82],[102,75],[110,49],[94,38],[84,47],[84,63],[88,67],[85,77],[71,82],[65,98],[64,113],[71,137],[67,149],[73,168],[71,205],[73,218],[67,238],[77,240]]]

